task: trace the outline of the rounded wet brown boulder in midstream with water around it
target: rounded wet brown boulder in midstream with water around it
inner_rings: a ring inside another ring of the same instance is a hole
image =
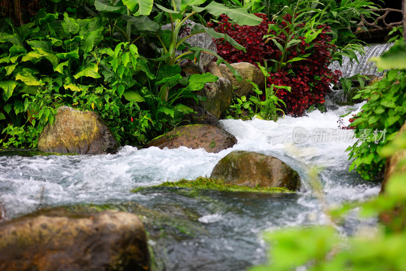
[[[210,177],[247,187],[285,187],[292,191],[300,187],[297,172],[278,158],[243,150],[221,159]]]

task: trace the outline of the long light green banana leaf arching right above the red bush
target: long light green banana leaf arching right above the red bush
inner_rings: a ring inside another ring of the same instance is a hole
[[[195,8],[193,7],[193,9]],[[211,2],[204,9],[214,16],[225,14],[240,25],[258,25],[262,22],[261,18],[258,18],[254,14],[249,14],[244,8],[229,9],[223,4]]]

